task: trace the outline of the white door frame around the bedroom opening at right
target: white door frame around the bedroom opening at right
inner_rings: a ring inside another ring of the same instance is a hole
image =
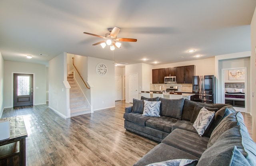
[[[245,89],[245,94],[244,94],[244,109],[245,113],[248,112],[248,87],[247,87],[247,67],[233,67],[233,68],[225,68],[221,69],[221,90],[220,90],[220,101],[221,103],[225,103],[225,73],[224,71],[226,70],[233,70],[233,69],[244,69],[245,70],[245,75],[244,75],[244,89]]]

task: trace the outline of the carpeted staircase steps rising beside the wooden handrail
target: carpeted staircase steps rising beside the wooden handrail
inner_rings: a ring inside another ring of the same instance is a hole
[[[84,97],[80,87],[74,80],[73,74],[68,75],[68,83],[70,85],[70,116],[75,117],[91,113],[90,104]]]

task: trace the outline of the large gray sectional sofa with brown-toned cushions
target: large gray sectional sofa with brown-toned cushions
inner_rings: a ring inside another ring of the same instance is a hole
[[[160,117],[142,116],[144,100],[161,101]],[[193,124],[203,107],[215,113],[200,136]],[[181,165],[256,165],[256,144],[244,125],[242,114],[231,105],[187,99],[134,99],[133,106],[125,108],[124,119],[127,130],[161,142],[134,166],[156,166],[158,162],[171,165],[184,160],[188,164]]]

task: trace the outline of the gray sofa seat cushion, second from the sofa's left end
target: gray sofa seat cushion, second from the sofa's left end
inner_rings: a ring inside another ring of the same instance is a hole
[[[180,120],[166,116],[152,117],[146,121],[146,126],[170,133],[172,126],[178,121]]]

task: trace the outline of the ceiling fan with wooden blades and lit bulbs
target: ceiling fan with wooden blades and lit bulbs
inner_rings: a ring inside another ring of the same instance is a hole
[[[88,34],[88,35],[92,35],[92,36],[96,36],[96,37],[105,39],[105,40],[100,41],[98,43],[94,43],[93,45],[100,44],[102,46],[102,48],[106,47],[106,45],[110,45],[111,50],[114,50],[115,47],[116,48],[121,47],[121,43],[119,41],[132,41],[132,42],[137,41],[137,39],[131,39],[131,38],[117,38],[116,36],[118,35],[118,33],[120,31],[120,28],[118,28],[116,26],[114,28],[108,28],[108,31],[109,32],[106,33],[105,36],[90,34],[88,32],[84,32],[84,34]]]

